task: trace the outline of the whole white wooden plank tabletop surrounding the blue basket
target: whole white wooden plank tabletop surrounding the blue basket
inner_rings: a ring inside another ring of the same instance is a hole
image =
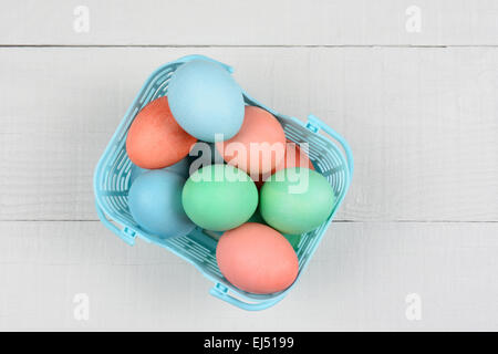
[[[498,1],[1,4],[1,330],[498,330]],[[190,53],[354,152],[336,221],[263,312],[95,214],[127,106]]]

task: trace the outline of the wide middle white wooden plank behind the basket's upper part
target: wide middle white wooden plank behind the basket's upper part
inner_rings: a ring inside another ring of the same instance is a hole
[[[0,220],[96,220],[92,174],[147,75],[199,52],[314,113],[356,163],[340,220],[498,220],[498,49],[1,49]]]

